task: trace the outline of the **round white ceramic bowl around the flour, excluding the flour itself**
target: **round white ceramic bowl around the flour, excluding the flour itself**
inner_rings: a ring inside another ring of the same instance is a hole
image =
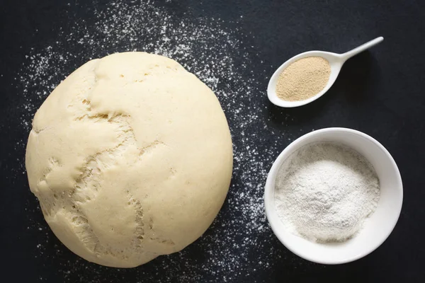
[[[350,146],[372,163],[380,180],[378,207],[365,221],[363,229],[343,243],[313,243],[295,236],[285,230],[276,213],[275,180],[281,164],[300,147],[317,141],[334,141]],[[264,192],[267,219],[279,241],[301,258],[323,264],[351,262],[373,252],[390,236],[402,210],[402,202],[402,178],[390,153],[367,134],[345,128],[319,129],[293,141],[273,163]]]

